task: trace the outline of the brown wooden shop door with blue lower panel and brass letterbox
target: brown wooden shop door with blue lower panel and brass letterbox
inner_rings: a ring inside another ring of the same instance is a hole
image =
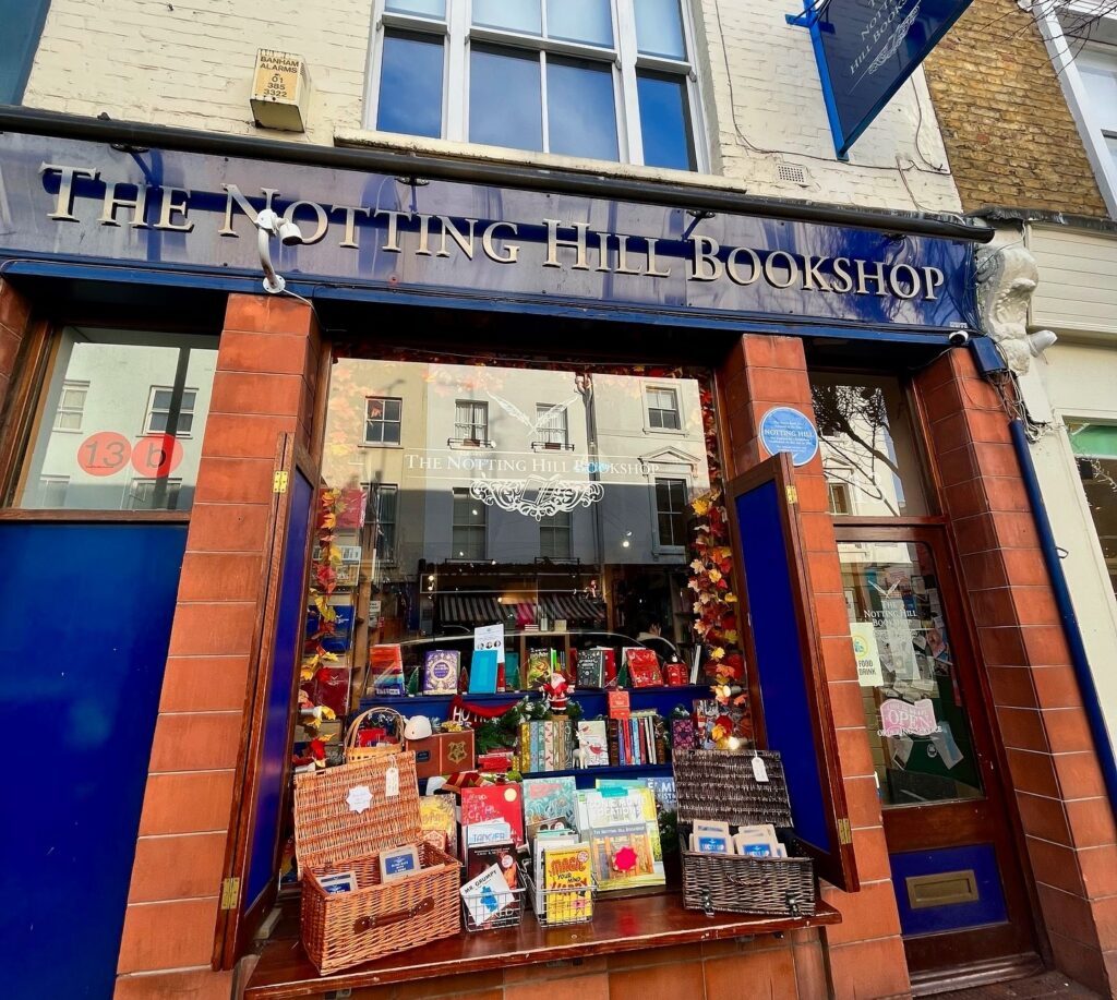
[[[836,529],[913,985],[1034,967],[1028,892],[945,535]]]

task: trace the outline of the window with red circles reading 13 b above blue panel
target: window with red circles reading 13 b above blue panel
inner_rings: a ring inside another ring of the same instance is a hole
[[[66,327],[13,506],[188,511],[217,338]]]

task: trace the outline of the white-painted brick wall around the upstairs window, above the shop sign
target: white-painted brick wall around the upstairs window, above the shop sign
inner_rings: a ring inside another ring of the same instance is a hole
[[[701,177],[363,129],[372,0],[54,0],[25,104],[323,145],[372,143],[677,183],[701,180],[846,205],[960,210],[922,71],[857,143],[850,162],[839,163],[809,33],[784,21],[796,4],[685,2],[712,164]],[[306,59],[312,94],[305,136],[252,123],[249,92],[260,47]],[[781,165],[801,167],[803,183],[781,179]]]

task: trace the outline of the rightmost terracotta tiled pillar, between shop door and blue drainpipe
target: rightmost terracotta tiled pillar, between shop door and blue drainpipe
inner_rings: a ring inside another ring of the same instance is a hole
[[[967,352],[939,358],[917,390],[1054,960],[1109,996],[1117,991],[1117,828],[1009,417]]]

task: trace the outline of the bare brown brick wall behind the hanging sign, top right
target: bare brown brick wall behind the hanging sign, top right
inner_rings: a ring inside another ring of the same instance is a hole
[[[1107,214],[1047,48],[1015,0],[975,0],[924,70],[967,211]]]

